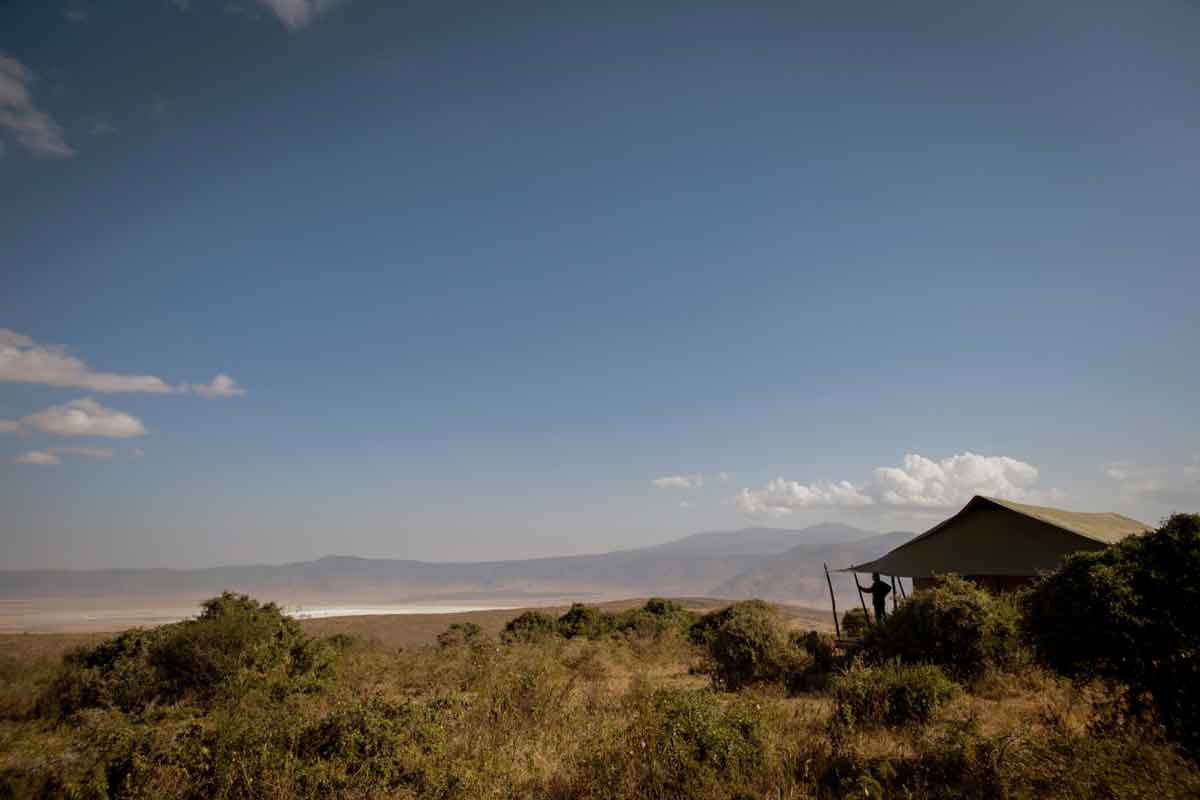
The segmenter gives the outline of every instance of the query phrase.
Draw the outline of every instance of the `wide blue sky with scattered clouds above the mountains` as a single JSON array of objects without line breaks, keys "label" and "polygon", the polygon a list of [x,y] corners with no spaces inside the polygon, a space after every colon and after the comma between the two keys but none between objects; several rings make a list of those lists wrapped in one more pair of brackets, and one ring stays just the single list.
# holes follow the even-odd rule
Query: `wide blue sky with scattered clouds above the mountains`
[{"label": "wide blue sky with scattered clouds above the mountains", "polygon": [[2,4],[0,560],[1195,510],[1196,41],[1188,2]]}]

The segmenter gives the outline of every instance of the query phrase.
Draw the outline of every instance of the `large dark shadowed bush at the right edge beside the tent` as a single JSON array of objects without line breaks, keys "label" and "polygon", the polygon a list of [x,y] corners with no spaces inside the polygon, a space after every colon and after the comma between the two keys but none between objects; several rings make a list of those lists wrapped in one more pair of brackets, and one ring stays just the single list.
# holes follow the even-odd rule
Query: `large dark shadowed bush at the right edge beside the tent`
[{"label": "large dark shadowed bush at the right edge beside the tent", "polygon": [[1200,754],[1200,515],[1174,515],[1152,534],[1079,553],[1022,600],[1037,657],[1069,676],[1129,687]]}]

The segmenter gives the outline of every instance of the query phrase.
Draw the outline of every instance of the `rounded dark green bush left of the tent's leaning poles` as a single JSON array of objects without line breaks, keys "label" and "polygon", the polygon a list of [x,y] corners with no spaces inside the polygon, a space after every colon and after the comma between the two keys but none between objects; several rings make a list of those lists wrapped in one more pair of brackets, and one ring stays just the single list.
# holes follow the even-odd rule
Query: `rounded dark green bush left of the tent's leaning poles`
[{"label": "rounded dark green bush left of the tent's leaning poles", "polygon": [[784,636],[775,608],[761,600],[708,614],[691,631],[704,642],[714,685],[728,691],[786,681],[803,667],[799,650]]}]

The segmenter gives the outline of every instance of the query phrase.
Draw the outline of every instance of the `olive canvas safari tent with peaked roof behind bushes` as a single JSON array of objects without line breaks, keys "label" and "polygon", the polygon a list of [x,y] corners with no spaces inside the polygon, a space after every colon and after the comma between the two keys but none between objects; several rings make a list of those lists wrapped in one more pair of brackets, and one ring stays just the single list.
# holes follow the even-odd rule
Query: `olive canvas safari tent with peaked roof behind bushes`
[{"label": "olive canvas safari tent with peaked roof behind bushes", "polygon": [[887,555],[847,571],[912,578],[919,591],[956,572],[991,590],[1015,589],[1070,553],[1103,549],[1151,527],[1118,513],[1082,513],[976,495],[956,515]]}]

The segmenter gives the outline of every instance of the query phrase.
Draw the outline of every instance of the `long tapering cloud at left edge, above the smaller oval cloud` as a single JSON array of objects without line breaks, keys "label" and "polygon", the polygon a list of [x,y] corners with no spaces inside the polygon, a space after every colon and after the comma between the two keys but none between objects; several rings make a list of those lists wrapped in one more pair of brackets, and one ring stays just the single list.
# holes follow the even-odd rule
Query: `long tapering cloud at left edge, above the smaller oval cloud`
[{"label": "long tapering cloud at left edge, above the smaller oval cloud", "polygon": [[157,375],[97,372],[82,360],[68,355],[61,347],[38,344],[30,337],[8,329],[0,329],[0,381],[85,389],[103,393],[194,393],[210,399],[246,393],[226,374],[218,374],[208,384],[170,386]]}]

